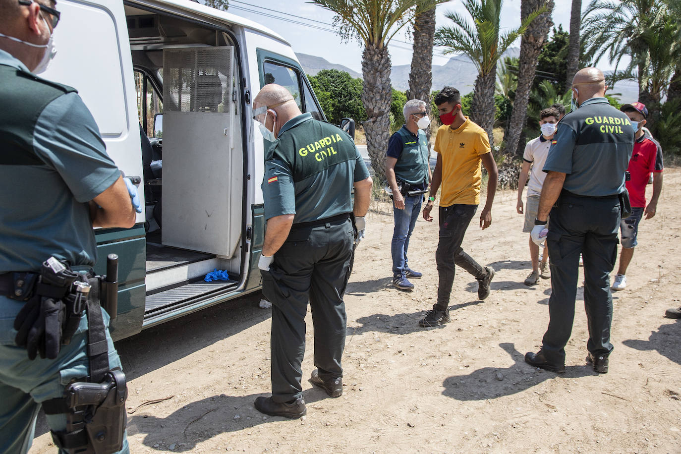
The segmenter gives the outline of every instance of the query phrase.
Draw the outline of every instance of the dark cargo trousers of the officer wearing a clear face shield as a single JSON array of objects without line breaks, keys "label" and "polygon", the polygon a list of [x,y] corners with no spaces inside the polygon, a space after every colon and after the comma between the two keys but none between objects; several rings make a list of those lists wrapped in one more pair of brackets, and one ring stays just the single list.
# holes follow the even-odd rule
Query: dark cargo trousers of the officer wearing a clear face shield
[{"label": "dark cargo trousers of the officer wearing a clear face shield", "polygon": [[315,227],[294,227],[262,272],[262,293],[272,302],[272,399],[302,396],[305,315],[310,302],[314,362],[322,380],[343,376],[347,317],[343,294],[350,276],[353,228],[349,218]]}]

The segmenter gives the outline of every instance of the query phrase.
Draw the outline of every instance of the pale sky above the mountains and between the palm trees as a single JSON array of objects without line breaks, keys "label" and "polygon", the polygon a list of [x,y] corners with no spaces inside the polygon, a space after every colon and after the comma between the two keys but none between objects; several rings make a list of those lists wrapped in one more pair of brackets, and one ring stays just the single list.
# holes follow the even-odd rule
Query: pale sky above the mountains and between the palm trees
[{"label": "pale sky above the mountains and between the palm trees", "polygon": [[[563,29],[569,31],[571,1],[556,0],[555,3],[556,6],[553,12],[554,24],[556,27],[558,27],[558,24],[562,24]],[[583,7],[586,7],[587,4],[588,2],[586,1],[582,2]],[[259,7],[268,8],[269,10]],[[445,12],[462,9],[462,2],[460,0],[452,0],[439,5],[437,7],[437,27],[452,23],[445,18]],[[296,17],[277,14],[275,11]],[[333,27],[319,23],[326,22],[331,24],[334,17],[334,13],[324,10],[322,7],[307,3],[305,0],[230,0],[229,12],[259,22],[276,31],[291,43],[295,52],[322,56],[330,61],[330,63],[338,63],[360,73],[362,72],[362,45],[354,39],[351,39],[349,42],[342,42],[340,37],[334,33]],[[304,22],[314,28],[293,24],[280,18],[268,17],[266,14]],[[504,1],[501,22],[502,27],[505,29],[518,27],[520,24],[520,0]],[[320,30],[316,27],[328,29],[329,31]],[[411,42],[411,37],[405,33],[408,27],[402,29],[390,44],[390,57],[393,65],[409,65],[411,63],[411,45],[405,44]],[[516,45],[520,46],[520,40]],[[449,59],[449,56],[443,56],[436,49],[433,58],[434,65],[444,65],[447,59]],[[601,62],[599,67],[604,70],[611,69],[611,65],[607,64],[607,61]]]}]

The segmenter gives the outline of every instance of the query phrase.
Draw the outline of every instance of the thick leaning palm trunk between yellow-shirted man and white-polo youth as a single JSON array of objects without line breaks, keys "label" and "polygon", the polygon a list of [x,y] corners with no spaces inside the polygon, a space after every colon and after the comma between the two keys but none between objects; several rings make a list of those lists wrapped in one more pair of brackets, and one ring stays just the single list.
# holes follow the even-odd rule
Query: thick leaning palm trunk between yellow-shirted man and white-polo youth
[{"label": "thick leaning palm trunk between yellow-shirted man and white-polo youth", "polygon": [[[539,15],[530,22],[520,40],[516,98],[513,100],[508,134],[504,135],[505,153],[509,156],[516,154],[518,150],[520,135],[527,116],[527,101],[535,80],[535,71],[537,71],[539,53],[553,25],[551,20],[553,7],[553,0],[522,0],[520,2],[521,20],[526,20],[530,14],[536,12],[539,12]],[[524,146],[525,144],[522,145]]]}]

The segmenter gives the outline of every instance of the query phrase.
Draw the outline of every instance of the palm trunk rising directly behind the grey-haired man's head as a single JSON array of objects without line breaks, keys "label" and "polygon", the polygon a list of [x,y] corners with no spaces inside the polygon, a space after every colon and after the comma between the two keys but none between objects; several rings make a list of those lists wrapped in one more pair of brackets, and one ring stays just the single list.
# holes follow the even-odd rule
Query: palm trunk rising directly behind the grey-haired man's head
[{"label": "palm trunk rising directly behind the grey-haired man's head", "polygon": [[[414,21],[414,46],[409,72],[407,99],[421,99],[430,114],[430,89],[432,87],[432,45],[435,35],[435,8],[416,16]],[[430,140],[430,128],[426,128]]]}]

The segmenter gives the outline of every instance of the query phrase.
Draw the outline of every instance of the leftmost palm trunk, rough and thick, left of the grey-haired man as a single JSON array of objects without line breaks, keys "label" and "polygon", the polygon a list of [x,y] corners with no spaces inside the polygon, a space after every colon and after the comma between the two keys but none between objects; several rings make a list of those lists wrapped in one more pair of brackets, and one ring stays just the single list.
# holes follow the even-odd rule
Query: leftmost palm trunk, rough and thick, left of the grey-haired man
[{"label": "leftmost palm trunk, rough and thick, left of the grey-haired man", "polygon": [[366,150],[371,159],[376,180],[381,186],[385,183],[385,150],[390,139],[390,103],[392,102],[392,86],[390,85],[390,55],[387,46],[367,43],[362,52],[362,103],[366,110],[367,120],[364,122],[366,132]]}]

